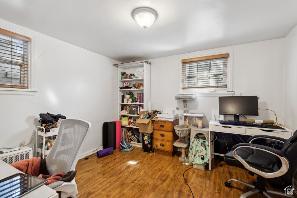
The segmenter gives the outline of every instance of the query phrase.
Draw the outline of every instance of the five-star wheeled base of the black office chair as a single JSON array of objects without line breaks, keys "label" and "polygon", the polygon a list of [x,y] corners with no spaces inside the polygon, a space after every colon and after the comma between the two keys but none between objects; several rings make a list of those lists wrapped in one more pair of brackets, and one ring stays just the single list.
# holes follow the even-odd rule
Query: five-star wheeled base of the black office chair
[{"label": "five-star wheeled base of the black office chair", "polygon": [[279,192],[279,191],[273,191],[273,190],[267,190],[267,189],[265,189],[265,187],[264,187],[265,180],[263,178],[260,178],[259,176],[257,177],[256,186],[255,185],[252,185],[250,183],[241,181],[239,179],[231,178],[231,179],[229,179],[228,181],[225,182],[225,186],[228,187],[228,188],[230,187],[230,181],[236,181],[238,183],[244,184],[244,185],[249,186],[249,187],[251,187],[251,188],[254,189],[254,190],[245,192],[239,198],[246,198],[246,197],[249,197],[249,196],[251,196],[253,194],[256,194],[256,193],[262,193],[262,194],[264,194],[268,198],[272,198],[268,193],[294,198],[293,196],[286,195],[285,193],[282,193],[282,192]]}]

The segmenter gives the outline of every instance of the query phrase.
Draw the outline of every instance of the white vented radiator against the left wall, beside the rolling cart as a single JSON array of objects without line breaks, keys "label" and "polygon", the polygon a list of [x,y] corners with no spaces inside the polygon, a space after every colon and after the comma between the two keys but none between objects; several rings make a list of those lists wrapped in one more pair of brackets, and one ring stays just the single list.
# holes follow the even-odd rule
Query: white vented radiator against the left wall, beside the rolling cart
[{"label": "white vented radiator against the left wall, beside the rolling cart", "polygon": [[17,151],[0,154],[0,159],[7,164],[29,158],[32,158],[32,149],[27,146],[20,147]]}]

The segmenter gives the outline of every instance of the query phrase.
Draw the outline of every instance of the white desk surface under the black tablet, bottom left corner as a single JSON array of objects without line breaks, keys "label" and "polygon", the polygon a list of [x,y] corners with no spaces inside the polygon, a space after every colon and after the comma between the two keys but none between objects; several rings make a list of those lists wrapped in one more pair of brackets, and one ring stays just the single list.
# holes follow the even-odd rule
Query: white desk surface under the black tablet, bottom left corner
[{"label": "white desk surface under the black tablet, bottom left corner", "polygon": [[[11,175],[14,175],[16,173],[22,173],[18,169],[10,166],[9,164],[3,162],[0,160],[0,179],[7,178]],[[25,194],[22,196],[23,198],[32,198],[32,197],[38,197],[38,198],[58,198],[59,194],[56,193],[55,190],[51,189],[48,186],[42,185],[38,187],[37,189],[34,189],[33,191]]]}]

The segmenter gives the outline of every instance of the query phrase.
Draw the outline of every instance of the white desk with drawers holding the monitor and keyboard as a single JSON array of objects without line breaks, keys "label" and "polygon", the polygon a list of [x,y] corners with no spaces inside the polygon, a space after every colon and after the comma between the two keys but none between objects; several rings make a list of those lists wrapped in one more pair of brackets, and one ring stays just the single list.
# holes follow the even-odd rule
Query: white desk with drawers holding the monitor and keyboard
[{"label": "white desk with drawers holding the monitor and keyboard", "polygon": [[220,124],[219,122],[214,122],[211,120],[209,122],[209,170],[211,170],[211,159],[214,155],[224,156],[224,154],[220,153],[213,153],[212,150],[214,149],[214,143],[211,144],[211,140],[213,139],[214,132],[222,132],[222,133],[233,133],[233,134],[240,134],[240,135],[270,135],[276,136],[284,139],[288,139],[293,136],[293,131],[286,128],[284,130],[273,130],[268,128],[262,127],[248,127],[248,126],[238,126],[238,125],[231,125],[231,124]]}]

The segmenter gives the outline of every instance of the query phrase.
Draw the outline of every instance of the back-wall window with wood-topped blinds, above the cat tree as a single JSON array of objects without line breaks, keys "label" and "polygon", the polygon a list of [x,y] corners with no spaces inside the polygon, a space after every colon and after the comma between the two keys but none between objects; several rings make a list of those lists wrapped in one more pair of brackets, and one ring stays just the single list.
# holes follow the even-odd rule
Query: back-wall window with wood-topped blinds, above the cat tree
[{"label": "back-wall window with wood-topped blinds, above the cat tree", "polygon": [[216,88],[228,85],[228,54],[181,60],[181,88]]}]

